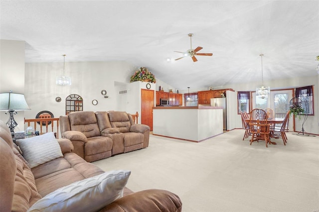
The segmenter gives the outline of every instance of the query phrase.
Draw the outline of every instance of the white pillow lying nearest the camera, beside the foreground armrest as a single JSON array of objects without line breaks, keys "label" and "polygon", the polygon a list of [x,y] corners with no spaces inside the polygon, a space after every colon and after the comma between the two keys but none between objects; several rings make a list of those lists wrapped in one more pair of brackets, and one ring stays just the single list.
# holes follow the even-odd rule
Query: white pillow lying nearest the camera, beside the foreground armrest
[{"label": "white pillow lying nearest the camera, beside the foreground armrest", "polygon": [[123,197],[131,171],[115,170],[55,190],[28,212],[94,212]]}]

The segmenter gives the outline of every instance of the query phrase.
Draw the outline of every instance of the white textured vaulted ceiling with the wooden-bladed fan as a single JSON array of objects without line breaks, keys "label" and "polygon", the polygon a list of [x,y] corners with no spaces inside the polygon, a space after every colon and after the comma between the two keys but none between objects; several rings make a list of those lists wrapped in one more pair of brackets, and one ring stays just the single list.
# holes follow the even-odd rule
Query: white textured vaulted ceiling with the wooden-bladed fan
[{"label": "white textured vaulted ceiling with the wooden-bladed fan", "polygon": [[[197,56],[176,59],[190,48]],[[0,39],[27,63],[128,61],[180,90],[316,76],[318,0],[1,0]]]}]

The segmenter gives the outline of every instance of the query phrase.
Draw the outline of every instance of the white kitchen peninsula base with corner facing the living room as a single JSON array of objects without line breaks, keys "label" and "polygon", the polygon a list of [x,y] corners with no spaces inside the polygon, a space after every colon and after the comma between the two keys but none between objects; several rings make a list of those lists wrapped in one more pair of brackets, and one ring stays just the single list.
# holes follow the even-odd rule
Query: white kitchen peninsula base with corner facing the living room
[{"label": "white kitchen peninsula base with corner facing the living room", "polygon": [[223,133],[223,109],[218,106],[153,107],[153,134],[200,142]]}]

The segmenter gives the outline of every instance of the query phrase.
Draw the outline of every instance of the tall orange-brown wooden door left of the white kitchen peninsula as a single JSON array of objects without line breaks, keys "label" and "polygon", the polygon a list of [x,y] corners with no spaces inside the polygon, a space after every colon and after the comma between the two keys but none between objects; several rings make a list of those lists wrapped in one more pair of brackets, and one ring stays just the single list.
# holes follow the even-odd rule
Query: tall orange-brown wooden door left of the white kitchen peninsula
[{"label": "tall orange-brown wooden door left of the white kitchen peninsula", "polygon": [[141,89],[141,123],[149,125],[153,131],[154,91]]}]

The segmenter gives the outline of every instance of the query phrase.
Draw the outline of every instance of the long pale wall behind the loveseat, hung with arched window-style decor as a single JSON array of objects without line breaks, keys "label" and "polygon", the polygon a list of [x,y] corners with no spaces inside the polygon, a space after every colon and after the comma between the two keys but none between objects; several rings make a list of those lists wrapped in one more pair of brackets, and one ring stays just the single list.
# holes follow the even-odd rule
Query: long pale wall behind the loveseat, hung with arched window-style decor
[{"label": "long pale wall behind the loveseat, hung with arched window-style decor", "polygon": [[[83,99],[83,110],[107,111],[126,109],[122,106],[119,91],[129,84],[134,67],[127,62],[66,62],[65,75],[72,78],[71,86],[58,86],[55,78],[63,71],[61,63],[25,64],[25,99],[31,107],[26,118],[34,118],[42,110],[49,110],[54,117],[65,114],[65,99],[77,94]],[[109,98],[104,98],[102,90]],[[62,101],[55,102],[56,97]],[[92,100],[97,100],[96,106]],[[135,109],[132,109],[133,111]],[[131,112],[131,111],[130,111]]]}]

